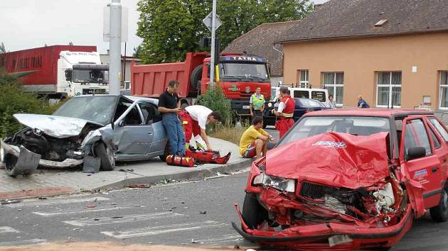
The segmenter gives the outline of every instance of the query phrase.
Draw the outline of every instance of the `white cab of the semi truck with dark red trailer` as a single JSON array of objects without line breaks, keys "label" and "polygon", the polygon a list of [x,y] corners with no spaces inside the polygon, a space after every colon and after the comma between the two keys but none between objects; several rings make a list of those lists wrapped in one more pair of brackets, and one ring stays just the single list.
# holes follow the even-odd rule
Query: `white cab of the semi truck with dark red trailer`
[{"label": "white cab of the semi truck with dark red trailer", "polygon": [[67,96],[107,94],[109,65],[102,65],[98,52],[60,52],[57,92]]}]

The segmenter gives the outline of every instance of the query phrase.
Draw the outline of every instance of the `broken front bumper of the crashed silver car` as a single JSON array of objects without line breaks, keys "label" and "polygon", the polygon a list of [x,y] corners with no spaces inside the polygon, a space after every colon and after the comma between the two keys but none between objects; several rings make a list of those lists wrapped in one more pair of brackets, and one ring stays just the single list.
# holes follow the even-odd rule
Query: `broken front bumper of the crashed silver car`
[{"label": "broken front bumper of the crashed silver car", "polygon": [[[4,140],[0,140],[0,160],[5,159],[5,156],[8,154],[14,155],[16,157],[19,157],[21,148],[17,147],[16,145],[9,145],[8,143],[5,143]],[[53,160],[39,160],[39,166],[41,167],[50,167],[50,168],[68,168],[68,167],[76,167],[80,164],[82,164],[84,160],[75,160],[75,159],[65,159],[62,162],[53,161]]]}]

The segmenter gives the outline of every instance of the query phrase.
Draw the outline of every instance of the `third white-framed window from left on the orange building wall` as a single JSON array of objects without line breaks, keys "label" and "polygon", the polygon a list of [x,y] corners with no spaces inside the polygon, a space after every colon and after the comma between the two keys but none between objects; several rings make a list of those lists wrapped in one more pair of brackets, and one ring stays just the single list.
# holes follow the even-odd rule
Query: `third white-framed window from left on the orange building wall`
[{"label": "third white-framed window from left on the orange building wall", "polygon": [[401,72],[377,72],[376,88],[376,106],[401,106]]}]

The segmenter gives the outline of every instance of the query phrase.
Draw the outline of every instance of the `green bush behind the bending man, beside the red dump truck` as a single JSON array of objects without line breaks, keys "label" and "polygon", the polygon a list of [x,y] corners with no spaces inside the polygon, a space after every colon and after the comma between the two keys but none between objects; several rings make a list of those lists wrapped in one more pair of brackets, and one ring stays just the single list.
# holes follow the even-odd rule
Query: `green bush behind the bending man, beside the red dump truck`
[{"label": "green bush behind the bending man, beside the red dump truck", "polygon": [[201,106],[206,106],[212,111],[219,111],[225,124],[230,124],[233,120],[233,111],[230,107],[230,100],[224,96],[221,87],[215,86],[213,89],[208,89],[206,94],[199,99],[199,103]]}]

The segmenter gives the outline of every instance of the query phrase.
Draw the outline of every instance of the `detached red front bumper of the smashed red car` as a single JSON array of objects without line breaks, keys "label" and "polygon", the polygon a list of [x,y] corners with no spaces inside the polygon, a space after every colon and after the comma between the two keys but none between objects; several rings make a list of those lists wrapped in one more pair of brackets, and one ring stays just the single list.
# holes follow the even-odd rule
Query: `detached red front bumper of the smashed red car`
[{"label": "detached red front bumper of the smashed red car", "polygon": [[[246,240],[267,247],[285,247],[294,250],[356,250],[373,247],[392,247],[410,230],[413,221],[411,206],[395,225],[388,227],[359,226],[351,223],[325,222],[309,225],[292,225],[283,230],[274,228],[250,229],[242,218],[238,204],[235,209],[241,221],[241,227],[232,223],[233,228]],[[330,238],[336,236],[349,238],[350,242],[330,245]]]}]

